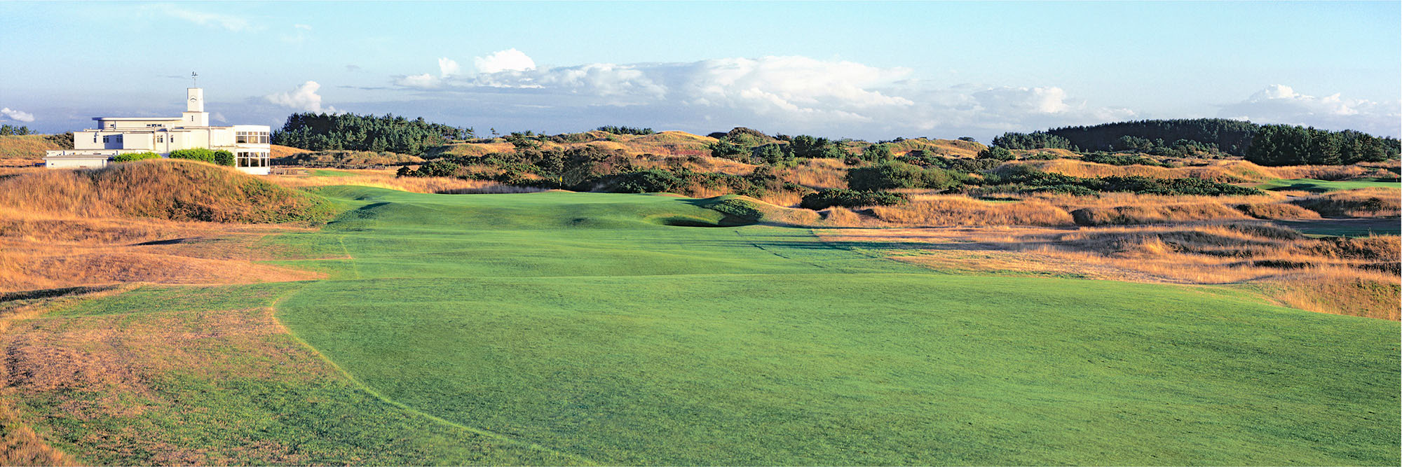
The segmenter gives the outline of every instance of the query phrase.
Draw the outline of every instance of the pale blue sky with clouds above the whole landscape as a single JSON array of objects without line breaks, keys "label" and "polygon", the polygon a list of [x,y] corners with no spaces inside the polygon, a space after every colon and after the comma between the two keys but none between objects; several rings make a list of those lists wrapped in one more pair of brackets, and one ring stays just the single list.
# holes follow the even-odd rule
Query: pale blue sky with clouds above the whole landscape
[{"label": "pale blue sky with clouds above the whole landscape", "polygon": [[889,140],[1228,117],[1402,133],[1402,3],[0,1],[0,123],[394,113]]}]

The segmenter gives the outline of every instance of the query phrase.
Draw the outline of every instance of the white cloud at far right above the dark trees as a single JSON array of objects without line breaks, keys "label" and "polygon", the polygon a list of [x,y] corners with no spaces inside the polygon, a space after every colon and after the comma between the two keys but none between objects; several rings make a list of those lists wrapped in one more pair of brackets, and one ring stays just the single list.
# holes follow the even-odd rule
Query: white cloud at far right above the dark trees
[{"label": "white cloud at far right above the dark trees", "polygon": [[1374,134],[1398,134],[1402,102],[1346,99],[1340,94],[1314,96],[1283,84],[1256,91],[1245,101],[1224,105],[1218,116],[1255,123],[1353,129]]}]

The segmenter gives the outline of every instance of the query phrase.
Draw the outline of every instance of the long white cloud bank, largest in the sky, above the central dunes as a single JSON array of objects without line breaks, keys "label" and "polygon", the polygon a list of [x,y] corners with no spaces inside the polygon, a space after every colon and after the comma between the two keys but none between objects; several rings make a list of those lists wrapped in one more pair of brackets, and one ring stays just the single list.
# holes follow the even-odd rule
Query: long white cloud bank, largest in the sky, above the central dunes
[{"label": "long white cloud bank, largest in the sky, above the central dunes", "polygon": [[[951,87],[914,80],[903,67],[802,56],[517,69],[405,76],[394,82],[435,98],[498,103],[492,106],[498,112],[520,113],[523,119],[527,113],[550,120],[618,115],[679,129],[719,123],[827,136],[918,136],[938,130],[959,133],[941,133],[949,137],[990,137],[1136,116],[1129,109],[1073,99],[1059,87]],[[541,106],[545,109],[526,110]],[[573,126],[590,124],[597,123]]]}]

